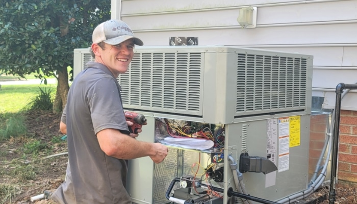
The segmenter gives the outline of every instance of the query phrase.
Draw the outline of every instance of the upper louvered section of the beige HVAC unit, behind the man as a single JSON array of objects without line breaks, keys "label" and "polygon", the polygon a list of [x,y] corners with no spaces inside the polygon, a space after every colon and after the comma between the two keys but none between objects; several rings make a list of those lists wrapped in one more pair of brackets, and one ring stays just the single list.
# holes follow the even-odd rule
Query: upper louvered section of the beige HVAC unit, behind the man
[{"label": "upper louvered section of the beige HVAC unit, behind the man", "polygon": [[[88,49],[74,53],[74,69],[84,69]],[[247,116],[309,113],[312,60],[243,47],[138,46],[118,81],[124,108],[228,124]]]}]

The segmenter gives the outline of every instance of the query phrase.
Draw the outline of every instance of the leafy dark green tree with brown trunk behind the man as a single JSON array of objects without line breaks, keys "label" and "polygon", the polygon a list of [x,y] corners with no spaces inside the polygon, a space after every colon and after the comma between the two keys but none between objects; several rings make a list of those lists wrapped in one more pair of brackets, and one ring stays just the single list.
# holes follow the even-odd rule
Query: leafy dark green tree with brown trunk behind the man
[{"label": "leafy dark green tree with brown trunk behind the man", "polygon": [[[110,19],[110,0],[0,0],[0,71],[58,79],[54,112],[67,101],[73,49],[89,47],[97,24]],[[43,74],[42,74],[43,73]]]}]

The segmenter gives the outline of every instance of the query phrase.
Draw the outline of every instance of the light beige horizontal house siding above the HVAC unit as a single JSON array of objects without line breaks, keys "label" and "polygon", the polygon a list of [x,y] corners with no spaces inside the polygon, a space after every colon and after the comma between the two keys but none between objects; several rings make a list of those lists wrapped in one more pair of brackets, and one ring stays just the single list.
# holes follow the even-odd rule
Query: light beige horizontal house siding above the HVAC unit
[{"label": "light beige horizontal house siding above the HVAC unit", "polygon": [[[115,4],[116,10],[120,10],[118,15],[145,46],[169,45],[172,36],[194,36],[199,45],[246,46],[313,55],[313,95],[326,96],[324,108],[334,107],[338,83],[357,82],[357,0],[119,2]],[[239,9],[245,6],[258,8],[257,28],[240,28],[236,19]],[[357,92],[351,91],[347,96],[342,109],[357,110],[353,103],[357,101]]]}]

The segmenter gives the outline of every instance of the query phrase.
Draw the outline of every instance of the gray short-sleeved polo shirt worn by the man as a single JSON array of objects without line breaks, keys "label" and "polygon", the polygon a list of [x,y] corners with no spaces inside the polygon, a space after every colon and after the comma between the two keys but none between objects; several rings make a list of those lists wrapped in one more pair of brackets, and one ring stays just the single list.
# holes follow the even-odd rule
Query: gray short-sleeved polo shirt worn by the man
[{"label": "gray short-sleeved polo shirt worn by the man", "polygon": [[96,138],[104,129],[129,131],[120,86],[103,64],[87,66],[68,92],[62,117],[67,125],[67,177],[52,198],[59,203],[132,203],[125,190],[127,161],[107,156]]}]

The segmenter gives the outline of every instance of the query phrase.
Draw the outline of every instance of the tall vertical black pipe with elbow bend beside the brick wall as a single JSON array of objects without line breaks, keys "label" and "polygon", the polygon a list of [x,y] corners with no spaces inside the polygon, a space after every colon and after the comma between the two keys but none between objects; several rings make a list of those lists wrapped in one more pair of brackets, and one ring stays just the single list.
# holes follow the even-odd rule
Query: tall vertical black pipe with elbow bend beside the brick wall
[{"label": "tall vertical black pipe with elbow bend beside the brick wall", "polygon": [[334,204],[336,201],[336,171],[337,171],[337,158],[339,151],[339,130],[340,130],[340,111],[341,111],[341,94],[343,89],[357,89],[356,84],[340,83],[336,86],[336,104],[335,104],[335,123],[334,123],[334,140],[331,153],[331,179],[329,191],[329,204]]}]

